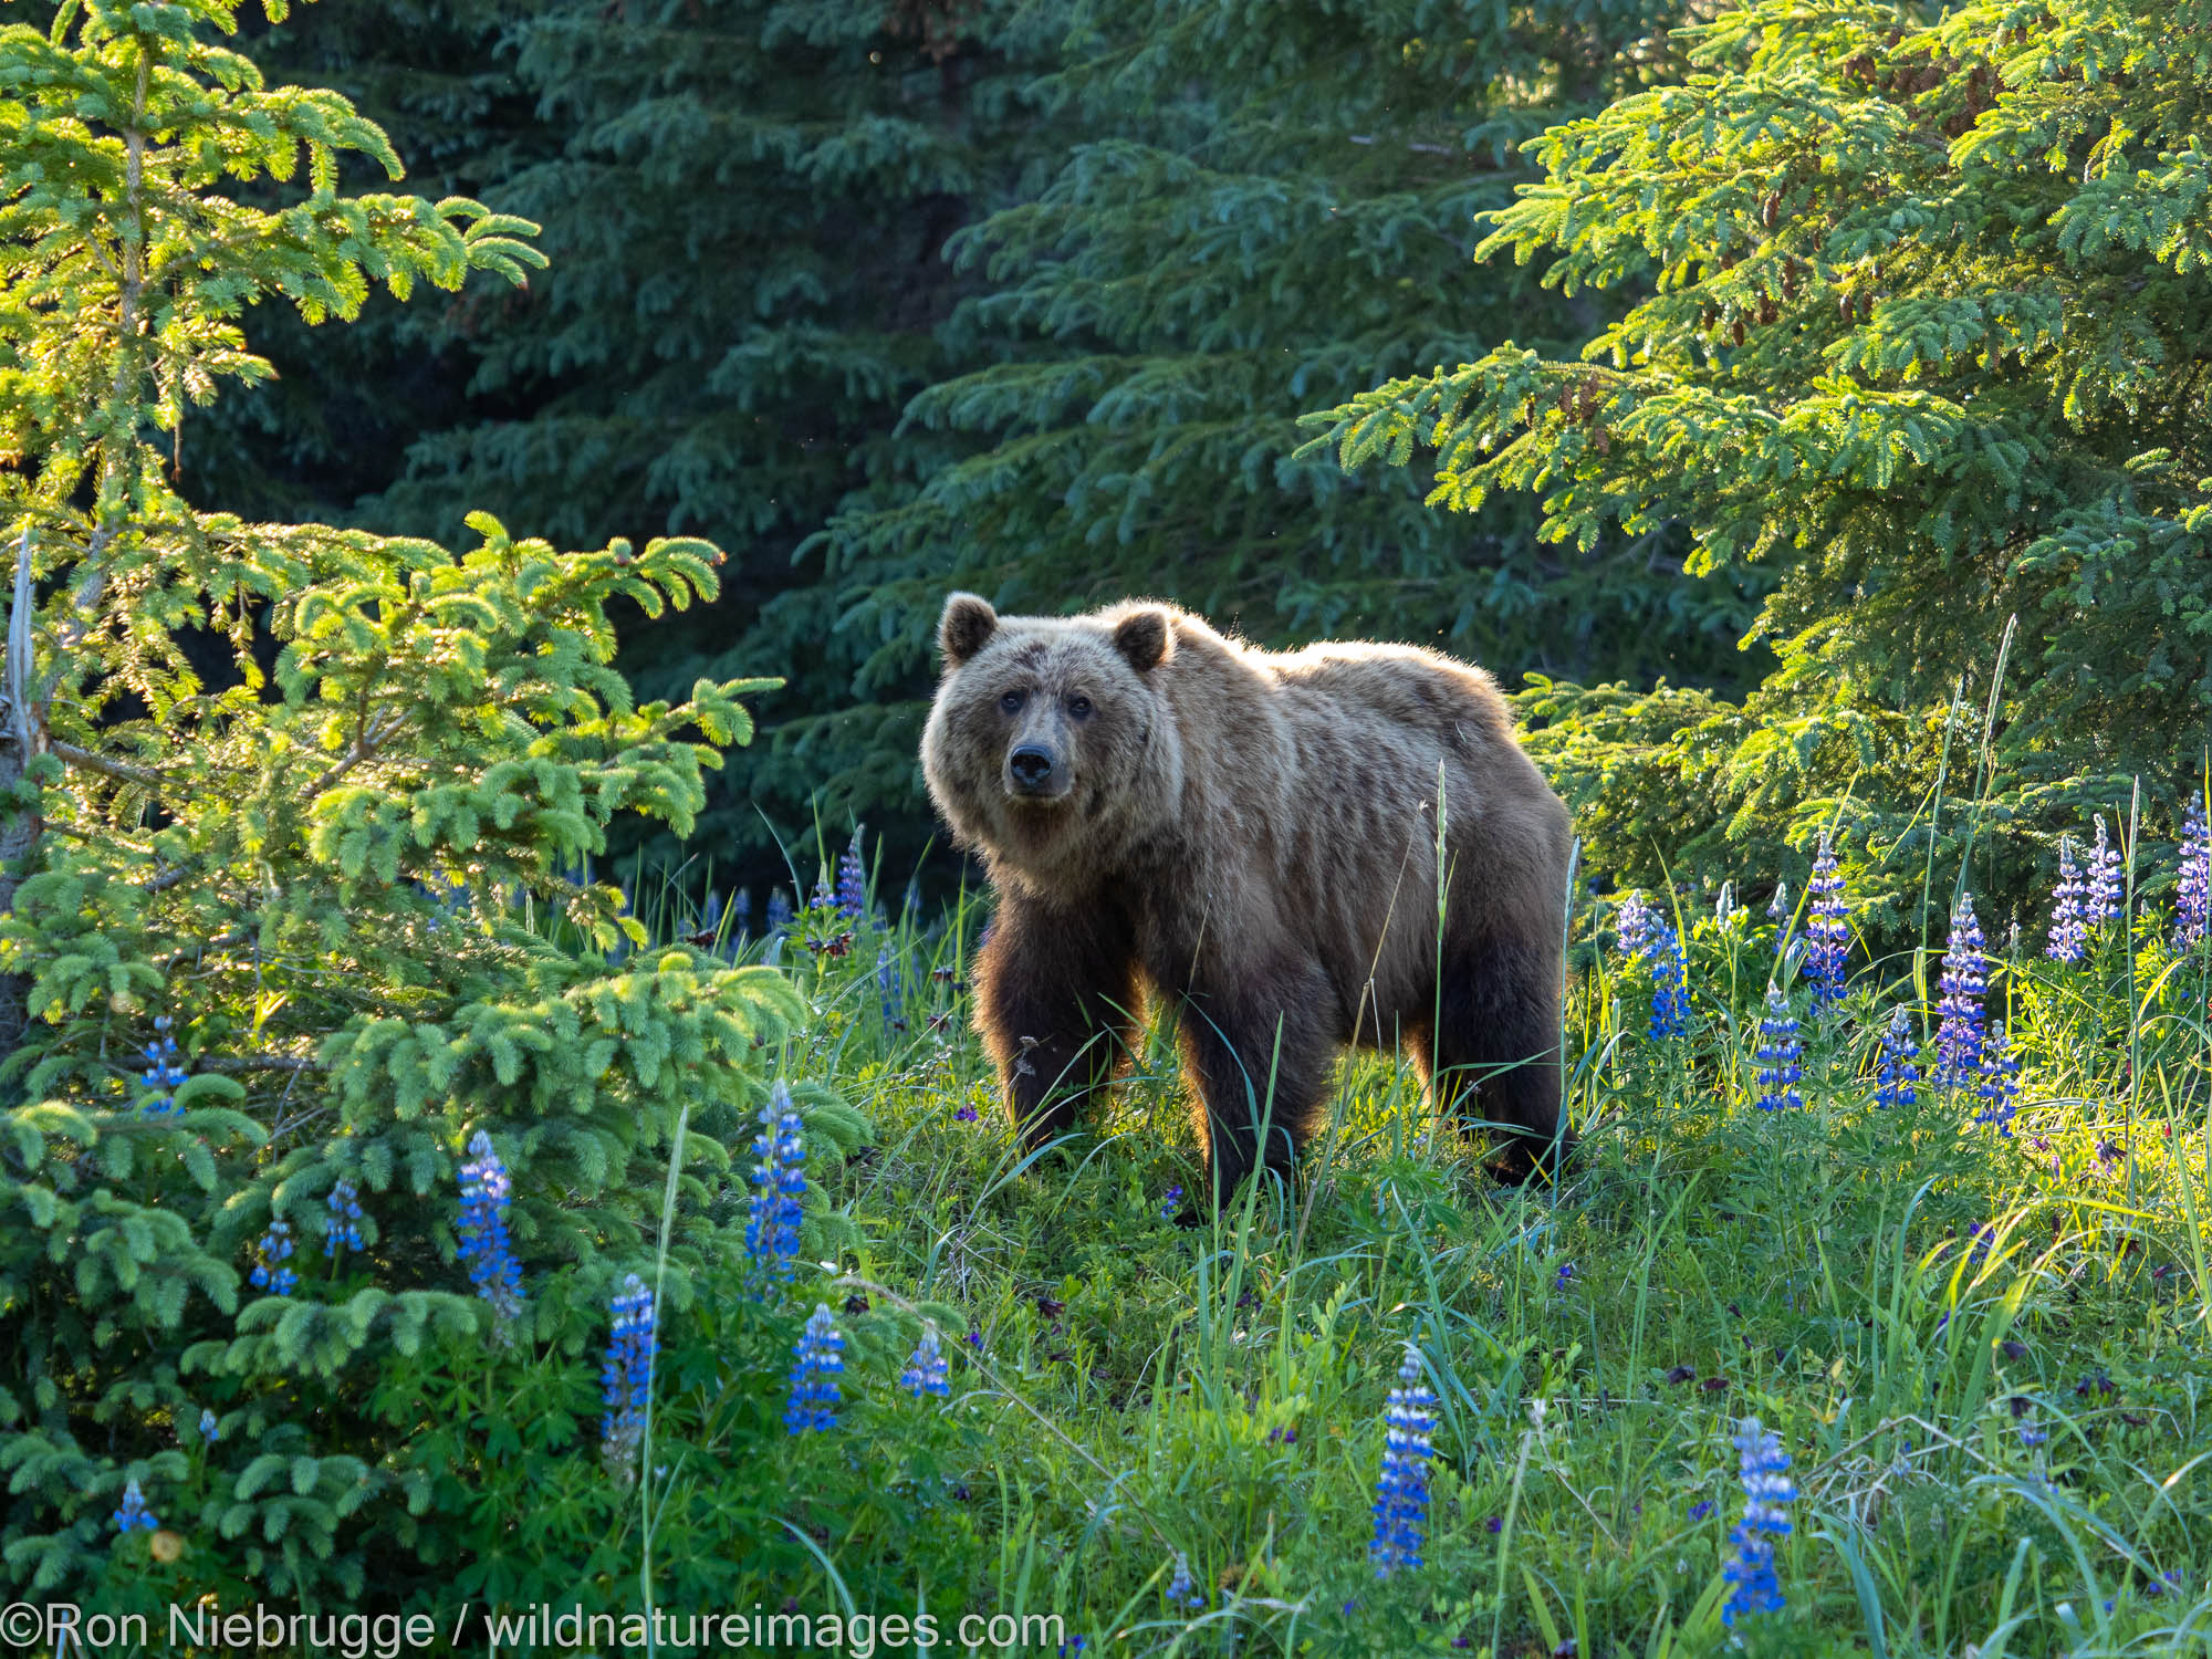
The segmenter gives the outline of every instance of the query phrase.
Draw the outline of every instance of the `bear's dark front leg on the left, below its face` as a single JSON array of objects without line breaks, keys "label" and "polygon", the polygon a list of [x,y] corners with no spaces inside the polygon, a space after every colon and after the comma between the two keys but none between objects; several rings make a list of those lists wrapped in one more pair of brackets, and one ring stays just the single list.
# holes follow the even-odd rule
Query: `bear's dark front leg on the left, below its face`
[{"label": "bear's dark front leg on the left, below its face", "polygon": [[975,1029],[998,1064],[1022,1150],[1073,1124],[1137,1026],[1137,969],[1119,916],[1006,896],[975,956]]}]

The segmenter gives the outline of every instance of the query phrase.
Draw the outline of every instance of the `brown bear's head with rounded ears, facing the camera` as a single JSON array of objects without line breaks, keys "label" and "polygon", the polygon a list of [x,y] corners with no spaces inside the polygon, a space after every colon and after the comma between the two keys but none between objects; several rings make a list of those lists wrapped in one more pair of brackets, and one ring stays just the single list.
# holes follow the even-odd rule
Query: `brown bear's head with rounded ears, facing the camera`
[{"label": "brown bear's head with rounded ears, facing the camera", "polygon": [[1166,697],[1175,617],[1002,617],[973,593],[938,622],[945,679],[922,774],[962,845],[1000,876],[1077,891],[1172,816],[1181,743]]}]

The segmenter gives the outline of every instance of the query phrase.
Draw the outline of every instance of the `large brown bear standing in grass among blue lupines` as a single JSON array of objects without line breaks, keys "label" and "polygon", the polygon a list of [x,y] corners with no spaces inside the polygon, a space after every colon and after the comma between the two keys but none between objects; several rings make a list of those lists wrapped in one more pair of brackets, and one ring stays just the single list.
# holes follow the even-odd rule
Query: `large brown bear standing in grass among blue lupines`
[{"label": "large brown bear standing in grass among blue lupines", "polygon": [[973,593],[938,646],[922,772],[998,894],[975,1026],[1024,1146],[1164,1004],[1214,1203],[1261,1124],[1267,1166],[1294,1166],[1347,1044],[1407,1051],[1442,1113],[1504,1130],[1509,1179],[1568,1148],[1568,814],[1486,672],[1254,650],[1168,604],[1000,617]]}]

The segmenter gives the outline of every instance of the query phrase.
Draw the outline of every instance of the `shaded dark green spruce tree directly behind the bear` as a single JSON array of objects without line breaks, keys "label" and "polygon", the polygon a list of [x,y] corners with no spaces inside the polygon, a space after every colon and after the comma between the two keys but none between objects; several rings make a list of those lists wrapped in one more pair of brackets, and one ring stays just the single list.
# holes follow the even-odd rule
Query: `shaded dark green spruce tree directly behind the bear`
[{"label": "shaded dark green spruce tree directly behind the bear", "polygon": [[1422,478],[1296,456],[1301,411],[1378,374],[1604,325],[1535,270],[1471,265],[1475,217],[1531,177],[1522,139],[1666,71],[1672,18],[1075,7],[1044,91],[1077,142],[1037,199],[953,239],[987,285],[956,319],[967,367],[905,414],[958,460],[845,511],[810,546],[816,580],[770,604],[748,657],[830,661],[776,706],[752,792],[922,816],[914,739],[953,586],[1046,613],[1166,595],[1263,644],[1409,639],[1509,684],[1734,672],[1752,606],[1734,573],[1683,580],[1666,526],[1562,551],[1533,511],[1455,522]]}]

